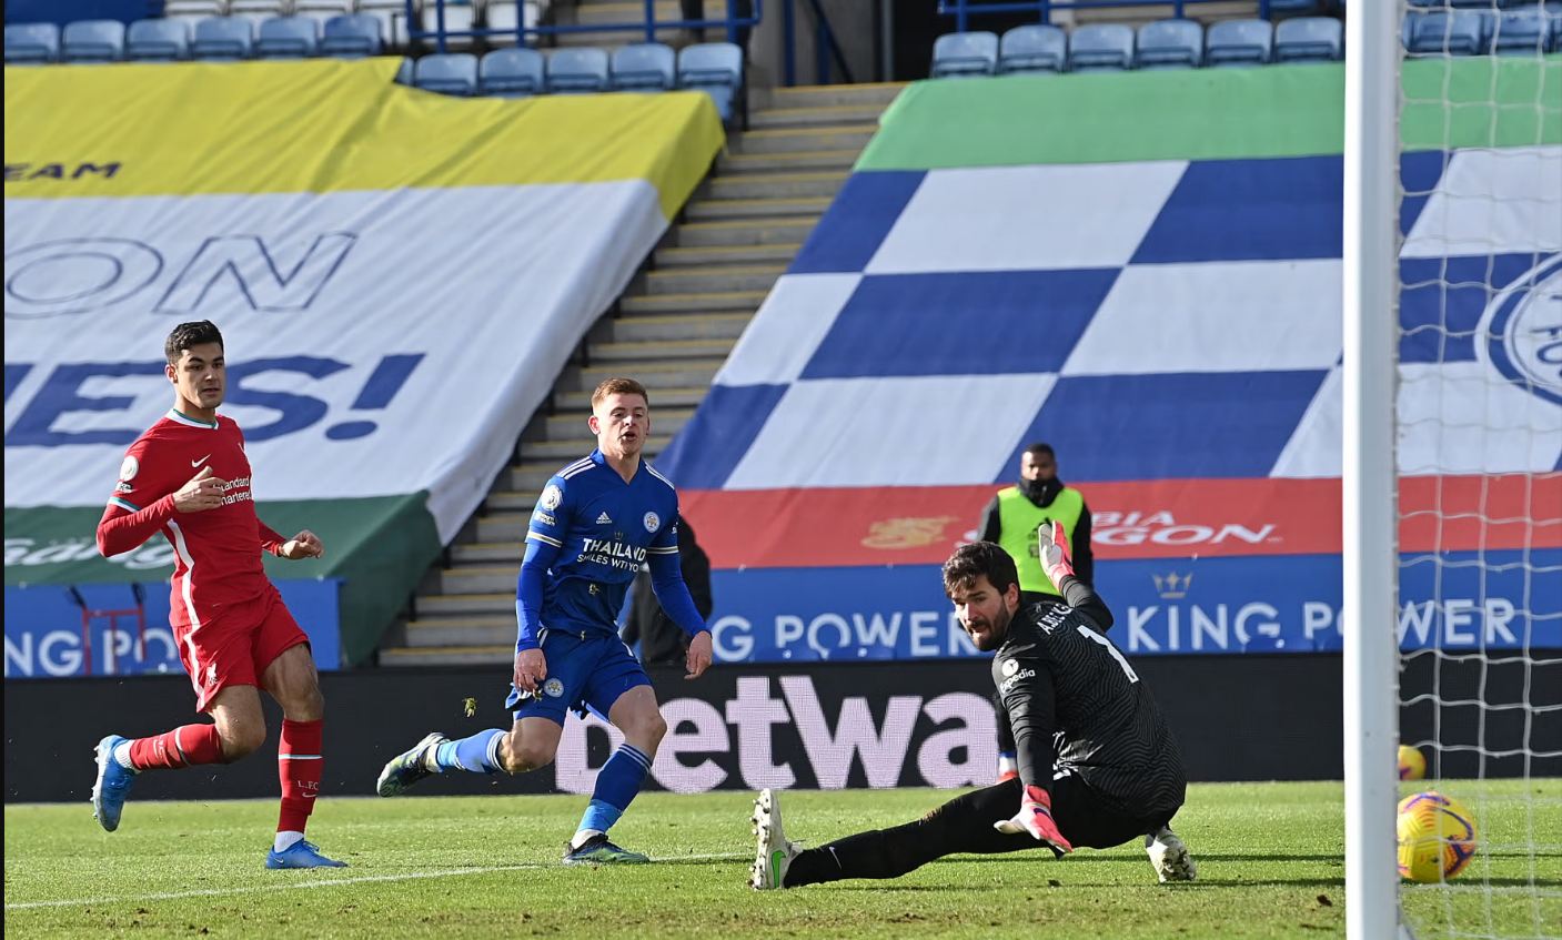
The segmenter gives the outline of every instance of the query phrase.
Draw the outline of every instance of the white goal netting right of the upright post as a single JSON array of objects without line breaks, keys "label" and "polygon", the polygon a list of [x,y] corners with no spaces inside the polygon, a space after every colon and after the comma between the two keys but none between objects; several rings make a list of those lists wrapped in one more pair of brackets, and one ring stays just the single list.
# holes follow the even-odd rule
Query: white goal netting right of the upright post
[{"label": "white goal netting right of the upright post", "polygon": [[1400,16],[1398,796],[1475,846],[1400,882],[1401,924],[1562,937],[1562,5]]}]

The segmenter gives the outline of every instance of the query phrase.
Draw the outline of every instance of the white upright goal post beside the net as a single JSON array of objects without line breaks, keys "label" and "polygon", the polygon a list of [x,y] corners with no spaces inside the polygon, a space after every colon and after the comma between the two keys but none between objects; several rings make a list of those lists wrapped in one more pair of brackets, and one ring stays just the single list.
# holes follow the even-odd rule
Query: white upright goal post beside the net
[{"label": "white upright goal post beside the net", "polygon": [[1398,342],[1400,3],[1345,22],[1342,554],[1345,923],[1351,940],[1398,924]]}]

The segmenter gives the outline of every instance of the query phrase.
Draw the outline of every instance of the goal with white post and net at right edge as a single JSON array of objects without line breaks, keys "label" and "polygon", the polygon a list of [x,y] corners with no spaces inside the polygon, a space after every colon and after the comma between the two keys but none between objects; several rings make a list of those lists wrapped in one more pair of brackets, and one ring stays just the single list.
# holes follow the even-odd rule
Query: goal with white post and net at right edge
[{"label": "goal with white post and net at right edge", "polygon": [[[1562,5],[1345,37],[1346,932],[1562,935]],[[1457,804],[1435,884],[1396,868],[1400,743]]]}]

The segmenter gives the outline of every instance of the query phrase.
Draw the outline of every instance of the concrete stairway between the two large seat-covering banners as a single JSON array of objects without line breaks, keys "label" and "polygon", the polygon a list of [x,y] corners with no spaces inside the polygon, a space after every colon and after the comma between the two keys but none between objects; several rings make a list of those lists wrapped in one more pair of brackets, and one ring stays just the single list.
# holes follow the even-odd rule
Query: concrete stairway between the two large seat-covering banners
[{"label": "concrete stairway between the two large seat-covering banners", "polygon": [[737,337],[814,230],[897,84],[779,89],[734,134],[617,309],[594,328],[526,428],[515,464],[412,601],[384,665],[509,662],[526,517],[559,467],[595,447],[590,392],[631,375],[651,392],[653,456],[704,398]]}]

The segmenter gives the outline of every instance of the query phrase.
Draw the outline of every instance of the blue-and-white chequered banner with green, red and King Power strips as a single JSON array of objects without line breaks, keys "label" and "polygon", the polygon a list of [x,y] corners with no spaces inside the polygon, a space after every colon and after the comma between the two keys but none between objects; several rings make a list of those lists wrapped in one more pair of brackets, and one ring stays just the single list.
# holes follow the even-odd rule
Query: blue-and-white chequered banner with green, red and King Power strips
[{"label": "blue-and-white chequered banner with green, red and King Power strips", "polygon": [[[1404,80],[1398,609],[1365,626],[1562,648],[1562,59]],[[908,87],[658,461],[717,657],[970,656],[939,565],[1031,442],[1125,651],[1339,650],[1342,101],[1339,67]]]}]

